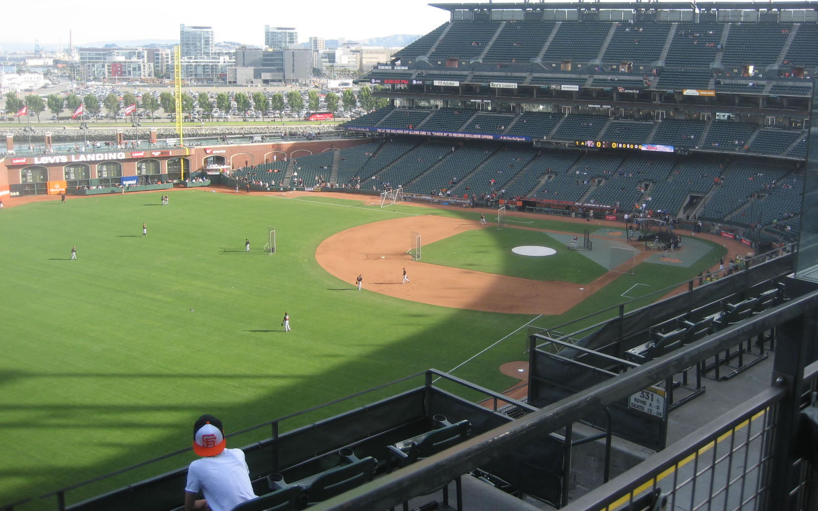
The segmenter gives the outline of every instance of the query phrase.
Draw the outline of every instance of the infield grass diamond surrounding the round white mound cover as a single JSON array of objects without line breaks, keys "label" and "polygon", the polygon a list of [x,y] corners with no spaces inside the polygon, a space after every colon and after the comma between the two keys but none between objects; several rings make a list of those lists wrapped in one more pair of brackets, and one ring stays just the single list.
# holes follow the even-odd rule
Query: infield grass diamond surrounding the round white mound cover
[{"label": "infield grass diamond surrounding the round white mound cover", "polygon": [[[522,245],[549,246],[557,253],[531,257],[511,251]],[[429,243],[423,247],[423,262],[489,274],[580,284],[590,283],[608,271],[546,233],[521,228],[474,229]]]}]

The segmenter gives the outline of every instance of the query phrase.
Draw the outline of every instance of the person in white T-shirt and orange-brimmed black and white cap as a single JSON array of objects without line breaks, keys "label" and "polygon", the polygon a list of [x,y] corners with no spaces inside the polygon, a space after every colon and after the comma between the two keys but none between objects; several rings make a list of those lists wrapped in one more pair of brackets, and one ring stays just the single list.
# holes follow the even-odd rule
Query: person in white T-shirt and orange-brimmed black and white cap
[{"label": "person in white T-shirt and orange-brimmed black and white cap", "polygon": [[[222,421],[213,415],[204,414],[193,425],[193,450],[202,458],[187,468],[185,511],[230,511],[256,497],[244,451],[225,449],[226,443]],[[196,500],[200,491],[205,499]]]}]

